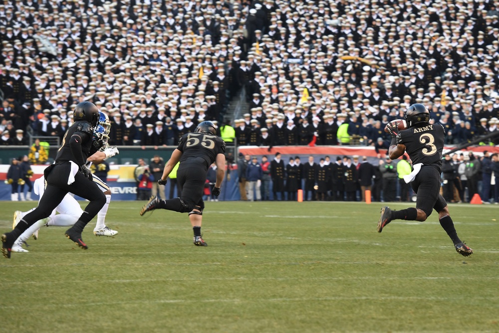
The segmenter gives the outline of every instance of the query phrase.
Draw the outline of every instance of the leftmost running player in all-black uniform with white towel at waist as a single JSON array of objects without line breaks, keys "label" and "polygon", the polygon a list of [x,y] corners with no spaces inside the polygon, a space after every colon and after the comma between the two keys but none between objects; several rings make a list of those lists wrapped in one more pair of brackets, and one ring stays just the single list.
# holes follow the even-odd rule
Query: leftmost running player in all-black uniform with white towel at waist
[{"label": "leftmost running player in all-black uniform with white towel at waist", "polygon": [[92,181],[92,173],[85,163],[103,143],[93,140],[93,128],[99,120],[99,111],[93,103],[76,105],[73,118],[75,122],[66,131],[55,162],[44,171],[47,186],[38,207],[24,216],[14,230],[1,236],[2,253],[6,258],[10,258],[10,249],[17,237],[36,221],[48,217],[68,192],[90,201],[78,221],[65,233],[80,248],[87,249],[81,232],[104,206],[106,196]]}]

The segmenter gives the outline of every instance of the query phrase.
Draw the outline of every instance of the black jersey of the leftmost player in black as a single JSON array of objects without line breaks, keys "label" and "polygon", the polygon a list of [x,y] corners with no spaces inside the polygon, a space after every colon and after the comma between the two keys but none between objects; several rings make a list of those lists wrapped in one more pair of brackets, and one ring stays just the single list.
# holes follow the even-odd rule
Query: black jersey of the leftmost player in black
[{"label": "black jersey of the leftmost player in black", "polygon": [[[77,134],[81,138],[82,156],[74,156],[69,146],[69,141],[73,134]],[[69,127],[62,138],[61,146],[57,151],[56,161],[73,161],[78,165],[85,164],[88,156],[91,155],[93,138],[93,127],[87,121],[76,121]],[[79,139],[78,139],[79,140]],[[95,152],[95,151],[94,151]],[[83,161],[79,160],[83,157]]]}]

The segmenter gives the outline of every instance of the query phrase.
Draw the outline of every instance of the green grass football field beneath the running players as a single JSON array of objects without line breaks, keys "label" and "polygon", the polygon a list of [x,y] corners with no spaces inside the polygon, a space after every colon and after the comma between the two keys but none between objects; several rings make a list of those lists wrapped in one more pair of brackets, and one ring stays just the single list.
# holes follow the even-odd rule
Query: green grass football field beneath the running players
[{"label": "green grass football field beneath the running players", "polygon": [[380,203],[209,202],[206,248],[142,205],[111,202],[87,251],[51,227],[1,258],[2,332],[499,332],[497,206],[450,206],[465,258],[436,214],[378,234]]}]

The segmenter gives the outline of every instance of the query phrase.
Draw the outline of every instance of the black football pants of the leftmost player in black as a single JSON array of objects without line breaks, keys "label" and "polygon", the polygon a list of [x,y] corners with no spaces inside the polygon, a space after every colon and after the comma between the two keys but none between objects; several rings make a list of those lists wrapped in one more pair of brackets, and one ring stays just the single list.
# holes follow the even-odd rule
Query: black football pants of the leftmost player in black
[{"label": "black football pants of the leftmost player in black", "polygon": [[79,218],[79,221],[85,224],[90,222],[106,203],[106,196],[97,184],[79,171],[74,176],[74,182],[71,185],[67,184],[71,169],[69,162],[53,165],[51,168],[46,177],[47,186],[38,207],[25,215],[15,227],[21,233],[36,221],[50,216],[68,192],[90,201]]}]

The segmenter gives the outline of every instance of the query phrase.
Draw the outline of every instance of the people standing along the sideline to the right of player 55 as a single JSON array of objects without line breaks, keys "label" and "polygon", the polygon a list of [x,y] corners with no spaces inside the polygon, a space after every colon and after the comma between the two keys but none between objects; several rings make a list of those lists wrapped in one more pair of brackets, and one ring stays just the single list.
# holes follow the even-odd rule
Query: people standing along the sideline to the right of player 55
[{"label": "people standing along the sideline to the right of player 55", "polygon": [[[469,203],[479,194],[484,203],[499,204],[499,156],[484,151],[444,154],[442,195],[450,203]],[[404,176],[412,171],[407,155],[393,161],[353,156],[317,156],[306,159],[290,156],[239,154],[237,160],[241,200],[297,200],[298,190],[304,201],[366,201],[366,190],[372,201],[412,200],[412,189]],[[493,182],[493,177],[497,177]]]}]

